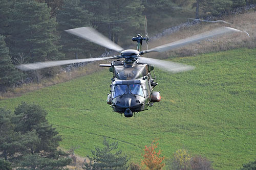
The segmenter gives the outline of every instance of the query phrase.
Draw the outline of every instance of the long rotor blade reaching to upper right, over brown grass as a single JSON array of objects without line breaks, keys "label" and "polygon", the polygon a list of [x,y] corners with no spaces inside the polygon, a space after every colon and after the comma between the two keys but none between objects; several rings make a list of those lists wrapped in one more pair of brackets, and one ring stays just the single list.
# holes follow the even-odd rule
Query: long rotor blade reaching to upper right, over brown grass
[{"label": "long rotor blade reaching to upper right, over brown grass", "polygon": [[214,29],[214,30],[211,30],[211,31],[206,31],[204,33],[197,34],[197,35],[185,38],[185,39],[181,39],[181,40],[174,41],[174,42],[171,42],[171,43],[168,43],[168,44],[157,46],[157,47],[151,48],[150,50],[144,50],[144,51],[140,52],[140,54],[150,53],[150,52],[160,52],[161,53],[161,52],[165,52],[165,51],[168,51],[168,50],[173,50],[174,48],[178,48],[178,47],[184,46],[186,44],[197,42],[197,41],[200,41],[200,40],[203,40],[203,39],[207,39],[207,38],[211,38],[211,37],[217,37],[217,36],[221,36],[223,34],[234,33],[234,32],[240,32],[241,33],[242,31],[237,30],[237,29],[233,29],[233,28],[230,28],[230,27],[219,27],[217,29]]}]

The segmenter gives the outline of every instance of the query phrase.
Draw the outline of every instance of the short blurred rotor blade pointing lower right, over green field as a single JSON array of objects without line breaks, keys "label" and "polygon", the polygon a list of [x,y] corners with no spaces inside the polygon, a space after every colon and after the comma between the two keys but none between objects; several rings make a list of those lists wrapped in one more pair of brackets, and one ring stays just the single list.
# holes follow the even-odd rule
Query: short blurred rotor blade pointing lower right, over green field
[{"label": "short blurred rotor blade pointing lower right, over green field", "polygon": [[195,69],[194,66],[176,63],[172,61],[166,61],[166,60],[158,60],[153,58],[145,58],[145,57],[138,57],[140,62],[145,62],[148,64],[152,64],[156,66],[157,68],[160,68],[165,71],[169,71],[172,73],[178,73],[183,71],[189,71],[192,69]]}]

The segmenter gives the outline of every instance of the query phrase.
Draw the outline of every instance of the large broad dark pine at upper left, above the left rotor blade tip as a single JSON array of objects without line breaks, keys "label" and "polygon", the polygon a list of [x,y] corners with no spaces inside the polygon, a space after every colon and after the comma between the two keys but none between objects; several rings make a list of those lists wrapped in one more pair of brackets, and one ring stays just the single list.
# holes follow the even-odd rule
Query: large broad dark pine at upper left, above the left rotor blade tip
[{"label": "large broad dark pine at upper left, above the left rotor blade tip", "polygon": [[58,36],[54,34],[57,22],[50,18],[47,4],[34,0],[16,0],[8,13],[6,34],[7,46],[12,58],[19,53],[28,56],[28,62],[46,61],[62,58],[57,45]]}]

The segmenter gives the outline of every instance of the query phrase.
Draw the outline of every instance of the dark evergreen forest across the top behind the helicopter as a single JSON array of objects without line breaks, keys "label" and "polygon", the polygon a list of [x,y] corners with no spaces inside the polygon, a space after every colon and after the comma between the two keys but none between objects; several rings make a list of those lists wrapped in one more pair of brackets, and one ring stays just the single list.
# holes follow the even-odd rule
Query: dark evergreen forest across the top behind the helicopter
[{"label": "dark evergreen forest across the top behind the helicopter", "polygon": [[[256,3],[256,0],[0,0],[0,91],[27,75],[54,75],[51,69],[24,74],[14,65],[97,57],[104,48],[69,35],[64,30],[91,26],[116,43],[126,45],[144,32],[144,16],[151,23],[179,11],[193,9],[195,17]],[[130,41],[128,41],[130,42]],[[93,54],[93,55],[92,55]],[[8,74],[6,74],[8,72]]]}]

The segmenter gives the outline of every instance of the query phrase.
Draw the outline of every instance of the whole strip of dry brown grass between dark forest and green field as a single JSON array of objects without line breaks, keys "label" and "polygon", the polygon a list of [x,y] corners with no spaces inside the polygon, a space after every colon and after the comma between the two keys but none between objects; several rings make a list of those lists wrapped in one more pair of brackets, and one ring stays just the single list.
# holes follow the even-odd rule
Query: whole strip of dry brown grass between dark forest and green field
[{"label": "whole strip of dry brown grass between dark forest and green field", "polygon": [[[216,27],[222,27],[222,26],[228,26],[228,27],[239,29],[239,30],[245,30],[250,35],[250,37],[248,37],[245,33],[231,34],[231,35],[226,35],[219,38],[207,39],[204,41],[186,45],[184,47],[177,48],[174,51],[169,51],[165,53],[150,53],[149,55],[152,58],[164,59],[168,57],[181,57],[181,56],[184,57],[184,56],[193,56],[193,55],[210,53],[210,52],[220,52],[220,51],[232,50],[232,49],[242,48],[242,47],[255,48],[256,47],[256,43],[255,43],[256,42],[256,34],[255,34],[256,20],[254,19],[255,16],[256,16],[256,11],[251,9],[239,15],[230,15],[230,16],[225,16],[221,18],[230,22],[231,25],[224,24],[223,22],[218,22],[218,23],[201,22],[191,27],[180,29],[175,33],[172,33],[169,35],[163,35],[159,39],[155,39],[153,36],[154,34],[149,31],[150,37],[152,38],[150,39],[149,48],[159,46],[168,42],[177,41],[177,40],[190,37],[192,35],[209,31]],[[173,22],[171,18],[164,21],[167,23]],[[158,26],[158,27],[161,28],[161,26]],[[129,39],[129,42],[132,43],[131,39]],[[145,45],[145,43],[143,43],[143,45]],[[135,42],[129,48],[134,48],[134,46],[135,46]],[[143,49],[145,49],[145,46],[143,46]],[[60,82],[69,81],[73,78],[91,74],[95,70],[99,69],[98,64],[99,62],[95,62],[94,64],[90,64],[89,66],[84,67],[83,69],[74,70],[72,72],[69,72],[68,74],[65,74],[62,72],[62,74],[57,74],[51,78],[42,79],[39,84],[34,82],[34,83],[24,84],[22,88],[14,88],[14,89],[9,88],[8,92],[0,92],[0,100],[5,98],[12,98],[14,96],[19,96],[21,94],[24,94],[39,88],[43,88],[43,87],[57,84]],[[55,67],[54,70],[55,71],[59,70],[59,67]]]}]

